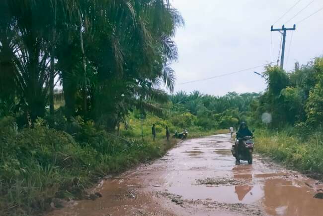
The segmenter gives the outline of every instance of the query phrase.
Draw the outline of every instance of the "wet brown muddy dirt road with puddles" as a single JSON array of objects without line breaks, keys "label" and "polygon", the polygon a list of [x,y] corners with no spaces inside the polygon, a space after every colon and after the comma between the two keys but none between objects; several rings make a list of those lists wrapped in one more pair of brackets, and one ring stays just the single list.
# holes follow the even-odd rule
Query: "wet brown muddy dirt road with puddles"
[{"label": "wet brown muddy dirt road with puddles", "polygon": [[227,134],[184,141],[48,216],[323,216],[322,184],[259,156],[236,166],[230,147]]}]

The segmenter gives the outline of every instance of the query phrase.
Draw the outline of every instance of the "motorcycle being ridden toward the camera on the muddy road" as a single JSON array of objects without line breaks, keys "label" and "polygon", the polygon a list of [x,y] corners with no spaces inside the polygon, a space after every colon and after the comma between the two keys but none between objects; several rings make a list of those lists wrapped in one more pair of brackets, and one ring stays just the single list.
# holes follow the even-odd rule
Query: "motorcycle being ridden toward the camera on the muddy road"
[{"label": "motorcycle being ridden toward the camera on the muddy road", "polygon": [[253,153],[254,141],[252,136],[244,136],[242,140],[238,138],[232,145],[232,155],[237,159],[237,164],[240,164],[240,160],[248,161],[248,164],[252,164],[252,153]]}]

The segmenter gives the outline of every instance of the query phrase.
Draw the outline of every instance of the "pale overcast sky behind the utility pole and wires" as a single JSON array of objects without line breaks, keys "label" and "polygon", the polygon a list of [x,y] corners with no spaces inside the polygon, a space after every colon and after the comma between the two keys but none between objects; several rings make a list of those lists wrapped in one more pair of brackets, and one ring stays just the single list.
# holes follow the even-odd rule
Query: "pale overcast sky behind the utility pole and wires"
[{"label": "pale overcast sky behind the utility pole and wires", "polygon": [[[271,33],[270,26],[297,1],[171,0],[185,19],[185,27],[178,29],[175,37],[179,49],[179,61],[172,65],[177,79],[175,92],[199,90],[204,94],[225,95],[232,91],[264,91],[266,83],[253,73],[262,72],[263,67],[207,81],[180,83],[269,63],[271,34],[272,61],[277,61],[281,34]],[[323,54],[323,10],[298,23],[323,7],[323,0],[314,0],[287,22],[311,1],[301,0],[274,25],[281,28],[282,24],[286,27],[296,24],[296,31],[288,31],[286,37],[284,68],[287,71],[294,69],[295,61],[306,64]]]}]

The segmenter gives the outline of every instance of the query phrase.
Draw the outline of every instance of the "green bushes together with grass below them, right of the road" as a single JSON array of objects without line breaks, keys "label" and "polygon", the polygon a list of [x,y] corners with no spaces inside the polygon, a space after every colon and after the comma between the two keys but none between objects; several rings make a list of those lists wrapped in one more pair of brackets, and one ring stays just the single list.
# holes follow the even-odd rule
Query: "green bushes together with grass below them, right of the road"
[{"label": "green bushes together with grass below them, right of the road", "polygon": [[253,109],[254,125],[263,128],[256,131],[256,151],[322,175],[323,58],[301,67],[296,63],[290,73],[267,67],[264,76],[268,87]]}]

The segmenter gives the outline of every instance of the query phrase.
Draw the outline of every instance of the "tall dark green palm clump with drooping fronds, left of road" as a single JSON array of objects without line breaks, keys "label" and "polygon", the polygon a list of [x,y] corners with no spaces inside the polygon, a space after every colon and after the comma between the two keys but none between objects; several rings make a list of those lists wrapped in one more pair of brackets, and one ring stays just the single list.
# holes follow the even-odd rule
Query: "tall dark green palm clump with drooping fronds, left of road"
[{"label": "tall dark green palm clump with drooping fronds, left of road", "polygon": [[18,98],[32,120],[44,116],[48,101],[53,114],[57,75],[68,116],[99,118],[103,96],[111,116],[138,101],[156,112],[147,103],[164,98],[160,85],[173,91],[169,65],[178,54],[171,38],[184,21],[167,0],[3,0],[1,6],[7,36],[0,37],[0,61],[9,57],[14,66]]}]

